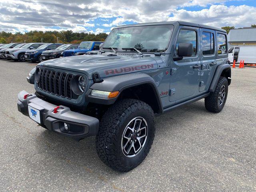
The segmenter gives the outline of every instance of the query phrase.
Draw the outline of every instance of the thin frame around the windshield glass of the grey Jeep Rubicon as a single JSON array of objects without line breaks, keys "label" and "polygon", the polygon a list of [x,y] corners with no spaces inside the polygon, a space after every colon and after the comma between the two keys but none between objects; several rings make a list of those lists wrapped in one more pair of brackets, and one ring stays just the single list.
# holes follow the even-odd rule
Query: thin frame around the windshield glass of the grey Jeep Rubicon
[{"label": "thin frame around the windshield glass of the grey Jeep Rubicon", "polygon": [[[175,30],[174,24],[152,24],[152,25],[147,24],[147,25],[120,26],[120,27],[113,28],[113,29],[111,30],[111,32],[112,32],[113,30],[115,30],[115,29],[120,29],[120,28],[131,28],[131,27],[141,27],[141,26],[143,26],[143,27],[145,27],[145,26],[163,26],[163,25],[171,25],[171,26],[173,27],[172,33],[170,34],[170,38],[168,39],[168,44],[167,44],[166,50],[165,50],[164,52],[143,52],[143,51],[141,51],[141,50],[139,50],[139,51],[140,51],[141,53],[143,53],[143,54],[167,54],[166,52],[169,50],[170,42],[171,42],[171,39],[172,39],[172,34],[173,34],[174,30]],[[111,32],[110,32],[110,34],[111,34]],[[109,35],[110,35],[110,34],[109,34]],[[104,44],[107,42],[107,40],[108,40],[108,38],[109,38],[109,35],[108,35],[107,38],[105,39]],[[113,52],[112,50],[104,49],[103,47],[106,47],[104,44],[101,46],[101,49],[100,49],[100,50],[102,50],[102,51],[104,51],[104,52]],[[120,50],[120,49],[117,49],[117,50],[116,50],[116,49],[115,49],[115,51],[118,52],[118,53],[138,54],[138,52],[135,51],[135,50],[134,50],[134,51],[132,51],[132,50],[127,51],[127,50]]]}]

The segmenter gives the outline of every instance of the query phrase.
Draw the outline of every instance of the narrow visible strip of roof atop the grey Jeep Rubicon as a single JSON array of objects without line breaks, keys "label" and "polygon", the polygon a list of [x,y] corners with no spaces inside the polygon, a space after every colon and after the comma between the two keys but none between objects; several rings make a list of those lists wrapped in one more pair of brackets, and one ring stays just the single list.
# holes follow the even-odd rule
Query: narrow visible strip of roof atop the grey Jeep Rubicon
[{"label": "narrow visible strip of roof atop the grey Jeep Rubicon", "polygon": [[179,25],[184,25],[184,26],[200,27],[200,28],[212,29],[212,30],[217,30],[217,31],[226,33],[226,30],[223,30],[222,28],[212,27],[212,26],[208,26],[208,25],[204,25],[204,24],[196,24],[196,23],[186,22],[186,21],[163,21],[163,22],[139,23],[139,24],[116,26],[115,28],[132,27],[132,26],[147,26],[147,25],[168,25],[168,24],[174,24],[174,25],[179,24]]}]

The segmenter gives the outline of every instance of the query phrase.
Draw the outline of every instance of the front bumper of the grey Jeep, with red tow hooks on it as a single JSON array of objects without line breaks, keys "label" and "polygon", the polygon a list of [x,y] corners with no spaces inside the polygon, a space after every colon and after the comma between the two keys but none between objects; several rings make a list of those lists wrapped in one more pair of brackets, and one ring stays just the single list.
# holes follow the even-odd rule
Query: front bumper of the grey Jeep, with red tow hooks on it
[{"label": "front bumper of the grey Jeep, with red tow hooks on it", "polygon": [[[40,111],[40,125],[58,134],[80,140],[89,136],[95,136],[99,128],[97,118],[73,112],[66,106],[60,106],[58,112],[54,113],[57,106],[38,98],[35,94],[29,94],[26,99],[26,91],[18,94],[18,111],[29,116],[28,104]],[[68,130],[64,129],[64,123],[68,124]]]}]

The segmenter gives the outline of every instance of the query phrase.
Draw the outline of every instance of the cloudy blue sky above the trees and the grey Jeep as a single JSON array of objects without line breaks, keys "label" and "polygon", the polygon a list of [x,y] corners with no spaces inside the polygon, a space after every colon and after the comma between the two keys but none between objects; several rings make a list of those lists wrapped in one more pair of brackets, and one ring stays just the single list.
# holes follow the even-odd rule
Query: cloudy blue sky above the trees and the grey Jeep
[{"label": "cloudy blue sky above the trees and the grey Jeep", "polygon": [[110,32],[114,26],[185,20],[212,26],[256,24],[256,0],[1,0],[0,31]]}]

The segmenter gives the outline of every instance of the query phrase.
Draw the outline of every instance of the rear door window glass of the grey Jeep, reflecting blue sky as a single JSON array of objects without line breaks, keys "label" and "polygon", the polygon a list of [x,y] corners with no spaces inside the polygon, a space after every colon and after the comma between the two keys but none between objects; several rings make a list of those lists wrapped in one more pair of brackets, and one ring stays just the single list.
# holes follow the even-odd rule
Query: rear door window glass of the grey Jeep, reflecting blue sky
[{"label": "rear door window glass of the grey Jeep, reflecting blue sky", "polygon": [[214,53],[214,36],[210,32],[202,32],[203,55]]}]

